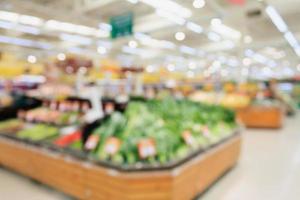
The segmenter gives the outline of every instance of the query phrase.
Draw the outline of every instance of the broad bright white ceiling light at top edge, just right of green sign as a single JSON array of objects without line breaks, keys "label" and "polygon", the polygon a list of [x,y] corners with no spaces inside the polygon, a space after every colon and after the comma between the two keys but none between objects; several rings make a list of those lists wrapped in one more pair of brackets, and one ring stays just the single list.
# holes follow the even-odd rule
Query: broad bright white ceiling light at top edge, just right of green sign
[{"label": "broad bright white ceiling light at top edge, just right of green sign", "polygon": [[148,4],[156,9],[172,13],[175,16],[183,18],[189,18],[192,16],[192,11],[190,9],[171,0],[140,0],[140,2]]}]

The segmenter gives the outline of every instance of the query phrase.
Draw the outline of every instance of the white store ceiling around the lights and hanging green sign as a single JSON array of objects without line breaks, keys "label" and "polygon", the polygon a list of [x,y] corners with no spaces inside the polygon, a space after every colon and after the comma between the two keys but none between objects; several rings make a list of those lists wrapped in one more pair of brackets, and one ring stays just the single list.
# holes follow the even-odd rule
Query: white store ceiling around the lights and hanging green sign
[{"label": "white store ceiling around the lights and hanging green sign", "polygon": [[[162,1],[162,0],[161,0]],[[195,33],[186,28],[185,25],[178,25],[155,13],[155,9],[143,2],[132,4],[128,0],[2,0],[0,8],[2,10],[37,16],[45,20],[59,20],[79,25],[98,28],[99,23],[108,23],[109,18],[128,11],[132,11],[135,17],[134,31],[144,33],[158,41],[169,41],[176,45],[174,49],[155,48],[149,44],[139,43],[137,48],[138,55],[132,56],[135,63],[160,63],[165,61],[167,56],[183,56],[186,59],[201,60],[208,56],[198,53],[189,55],[180,51],[180,46],[185,45],[198,51],[205,51],[212,55],[235,56],[238,59],[244,57],[244,50],[251,48],[261,52],[264,56],[274,59],[272,54],[265,54],[265,47],[274,47],[277,51],[284,51],[285,57],[280,62],[288,60],[291,64],[298,64],[299,58],[293,49],[284,40],[283,35],[275,28],[271,20],[264,12],[264,6],[256,0],[248,0],[244,6],[236,6],[228,3],[227,0],[206,0],[204,8],[196,9],[193,7],[193,0],[173,0],[181,6],[192,11],[192,16],[187,20],[194,22],[204,28],[204,33]],[[290,30],[300,39],[300,1],[299,0],[269,0],[269,5],[273,5],[282,15]],[[247,12],[260,10],[261,15],[248,17]],[[179,13],[180,14],[180,13]],[[241,32],[242,36],[249,35],[253,39],[251,43],[245,44],[243,40],[234,41],[235,46],[228,43],[228,39],[222,38],[225,42],[212,42],[208,39],[207,33],[211,31],[210,21],[213,18],[221,18],[227,26]],[[186,34],[184,41],[177,41],[174,34],[183,31]],[[97,42],[100,45],[104,42],[111,43],[109,56],[118,58],[128,52],[122,52],[129,40],[136,40],[134,36],[111,40],[109,38],[92,37],[90,45],[76,45],[60,40],[60,32],[42,30],[40,35],[21,33],[13,30],[0,29],[1,35],[21,37],[35,41],[43,41],[53,46],[50,50],[42,51],[39,49],[28,49],[26,52],[19,51],[19,47],[2,45],[2,49],[18,51],[24,55],[30,53],[38,56],[56,54],[67,51],[71,47],[80,47],[85,54],[100,56],[97,54]],[[153,42],[154,43],[154,42]],[[123,49],[124,50],[124,49]],[[141,54],[139,54],[141,53]],[[145,55],[145,56],[141,56]],[[130,56],[130,55],[129,55]],[[103,57],[103,56],[102,56]],[[124,56],[123,56],[124,58]],[[211,60],[215,59],[211,57]]]}]

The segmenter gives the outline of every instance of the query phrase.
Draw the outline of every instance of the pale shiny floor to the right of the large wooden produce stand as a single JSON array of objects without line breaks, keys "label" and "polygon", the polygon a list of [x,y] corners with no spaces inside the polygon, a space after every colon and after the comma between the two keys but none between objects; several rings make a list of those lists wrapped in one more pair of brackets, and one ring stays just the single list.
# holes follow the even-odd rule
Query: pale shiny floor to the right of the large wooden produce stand
[{"label": "pale shiny floor to the right of the large wooden produce stand", "polygon": [[238,166],[201,200],[298,200],[300,115],[281,130],[248,130]]}]

